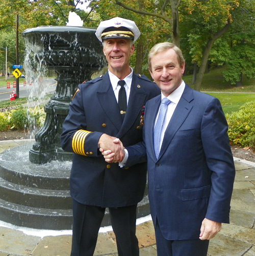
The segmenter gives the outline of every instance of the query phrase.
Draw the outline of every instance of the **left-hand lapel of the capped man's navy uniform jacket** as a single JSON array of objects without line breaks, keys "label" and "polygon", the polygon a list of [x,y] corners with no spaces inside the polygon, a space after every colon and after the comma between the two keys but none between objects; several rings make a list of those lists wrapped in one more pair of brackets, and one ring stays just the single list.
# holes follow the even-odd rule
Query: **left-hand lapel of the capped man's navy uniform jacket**
[{"label": "left-hand lapel of the capped man's navy uniform jacket", "polygon": [[108,72],[101,80],[101,85],[97,91],[97,98],[107,117],[111,120],[112,124],[118,130],[120,130],[122,125],[122,118]]}]

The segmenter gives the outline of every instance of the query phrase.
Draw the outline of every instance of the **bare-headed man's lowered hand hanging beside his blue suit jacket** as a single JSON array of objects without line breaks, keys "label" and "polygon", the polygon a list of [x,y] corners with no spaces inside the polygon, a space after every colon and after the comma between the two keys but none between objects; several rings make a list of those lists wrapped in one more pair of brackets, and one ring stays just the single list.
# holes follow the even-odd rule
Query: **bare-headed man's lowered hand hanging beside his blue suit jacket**
[{"label": "bare-headed man's lowered hand hanging beside his blue suit jacket", "polygon": [[216,236],[216,234],[220,231],[220,229],[221,229],[220,222],[212,221],[205,218],[202,221],[199,239],[210,240]]}]

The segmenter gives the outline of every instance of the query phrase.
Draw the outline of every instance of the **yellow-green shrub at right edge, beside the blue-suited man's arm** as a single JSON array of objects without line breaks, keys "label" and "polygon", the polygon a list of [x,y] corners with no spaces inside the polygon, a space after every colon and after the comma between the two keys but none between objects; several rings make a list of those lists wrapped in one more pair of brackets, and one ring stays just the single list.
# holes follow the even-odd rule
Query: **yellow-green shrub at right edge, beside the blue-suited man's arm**
[{"label": "yellow-green shrub at right edge, beside the blue-suited man's arm", "polygon": [[225,114],[230,144],[246,147],[249,137],[255,135],[255,101],[245,103],[240,110]]}]

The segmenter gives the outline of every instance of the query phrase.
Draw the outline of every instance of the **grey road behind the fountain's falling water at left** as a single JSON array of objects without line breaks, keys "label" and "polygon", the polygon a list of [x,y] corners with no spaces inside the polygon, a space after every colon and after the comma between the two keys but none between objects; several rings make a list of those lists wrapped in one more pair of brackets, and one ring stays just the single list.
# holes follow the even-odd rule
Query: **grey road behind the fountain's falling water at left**
[{"label": "grey road behind the fountain's falling water at left", "polygon": [[[54,92],[56,89],[57,82],[52,78],[44,78],[43,83],[46,86],[46,94],[49,94],[50,92]],[[16,93],[16,88],[13,88],[13,85],[11,84],[11,88],[0,87],[0,101],[6,101],[10,99],[10,94],[12,94],[13,89]],[[37,88],[34,88],[34,86],[27,84],[26,86],[23,86],[23,83],[19,84],[19,98],[29,97],[31,95],[31,92],[35,94],[34,91],[36,91]]]}]

